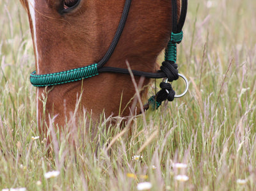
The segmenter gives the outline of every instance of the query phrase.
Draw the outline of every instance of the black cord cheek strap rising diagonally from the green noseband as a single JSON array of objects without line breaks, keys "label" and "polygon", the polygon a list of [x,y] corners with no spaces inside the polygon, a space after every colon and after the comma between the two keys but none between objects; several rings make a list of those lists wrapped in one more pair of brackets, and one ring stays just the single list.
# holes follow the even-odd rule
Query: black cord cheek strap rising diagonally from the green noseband
[{"label": "black cord cheek strap rising diagonally from the green noseband", "polygon": [[123,32],[124,26],[125,26],[125,22],[127,20],[128,17],[128,13],[129,13],[129,9],[131,6],[131,0],[126,0],[125,1],[125,5],[124,5],[124,11],[122,13],[122,17],[120,19],[120,22],[118,24],[118,28],[116,29],[116,33],[115,36],[111,42],[111,45],[109,46],[108,51],[106,52],[106,54],[104,55],[104,57],[99,61],[99,63],[97,63],[97,68],[101,68],[103,65],[106,64],[106,62],[109,60],[109,58],[111,57],[111,55],[113,54],[116,45],[118,44],[118,41],[120,39],[120,36]]}]

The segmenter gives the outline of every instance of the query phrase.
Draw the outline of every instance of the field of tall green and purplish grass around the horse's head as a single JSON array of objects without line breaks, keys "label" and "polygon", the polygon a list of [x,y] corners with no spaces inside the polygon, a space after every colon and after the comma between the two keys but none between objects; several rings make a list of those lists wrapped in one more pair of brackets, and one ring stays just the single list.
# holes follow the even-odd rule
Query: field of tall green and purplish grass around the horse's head
[{"label": "field of tall green and purplish grass around the horse's head", "polygon": [[[92,141],[82,121],[76,149],[70,134],[56,132],[47,155],[36,137],[28,19],[18,0],[1,0],[0,190],[137,190],[145,181],[150,190],[256,190],[255,8],[250,0],[189,1],[178,45],[188,94],[131,119],[129,139],[118,125],[104,130],[102,118]],[[46,178],[49,171],[60,174]]]}]

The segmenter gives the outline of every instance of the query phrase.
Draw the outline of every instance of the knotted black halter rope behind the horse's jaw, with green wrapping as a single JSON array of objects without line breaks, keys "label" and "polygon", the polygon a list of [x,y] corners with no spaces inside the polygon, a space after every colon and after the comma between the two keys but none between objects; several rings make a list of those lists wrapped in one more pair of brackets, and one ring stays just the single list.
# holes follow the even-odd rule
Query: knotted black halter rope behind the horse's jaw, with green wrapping
[{"label": "knotted black halter rope behind the horse's jaw, with green wrapping", "polygon": [[[177,2],[177,1],[176,1]],[[175,0],[172,0],[172,34],[170,40],[165,49],[164,61],[160,67],[161,71],[166,74],[165,82],[160,83],[161,90],[156,93],[156,95],[151,96],[148,99],[148,103],[144,106],[144,109],[147,110],[151,107],[153,110],[158,109],[161,103],[165,100],[172,102],[175,98],[175,91],[172,89],[172,85],[169,82],[179,79],[179,71],[177,61],[177,43],[180,43],[183,38],[182,27],[186,19],[186,12],[188,8],[188,2],[182,0],[182,8],[180,11],[180,19],[177,24],[178,14],[177,14],[177,3]],[[182,78],[186,81],[186,91],[188,89],[188,84],[186,78],[183,75]]]}]

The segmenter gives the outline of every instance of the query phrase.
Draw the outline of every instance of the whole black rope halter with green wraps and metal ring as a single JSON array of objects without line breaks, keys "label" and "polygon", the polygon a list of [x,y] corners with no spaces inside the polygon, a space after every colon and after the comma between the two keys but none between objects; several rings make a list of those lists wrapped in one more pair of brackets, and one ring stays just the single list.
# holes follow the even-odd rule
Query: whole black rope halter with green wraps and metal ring
[{"label": "whole black rope halter with green wraps and metal ring", "polygon": [[[104,65],[109,60],[115,50],[116,45],[118,44],[118,41],[125,26],[125,22],[127,20],[131,1],[132,0],[125,1],[122,17],[118,24],[118,28],[116,30],[113,41],[111,42],[108,51],[99,61],[99,63],[93,63],[92,65],[84,66],[82,68],[43,75],[36,74],[36,72],[34,71],[30,75],[31,84],[36,87],[54,86],[58,84],[65,84],[68,82],[75,82],[77,80],[85,79],[88,77],[93,77],[102,72],[129,74],[129,70],[125,68],[115,68]],[[188,0],[182,0],[180,18],[178,22],[177,0],[172,0],[172,34],[170,36],[170,41],[168,42],[168,45],[165,49],[164,61],[162,63],[162,66],[160,67],[161,70],[157,71],[157,73],[132,70],[133,75],[136,76],[143,76],[153,79],[165,79],[160,84],[161,90],[157,92],[155,96],[149,98],[148,103],[145,105],[145,109],[148,109],[149,106],[152,107],[152,109],[157,109],[164,100],[168,100],[171,102],[175,97],[178,98],[184,96],[188,91],[188,80],[184,75],[178,73],[178,65],[176,64],[177,43],[180,43],[183,37],[182,27],[184,26],[184,22],[186,19],[187,8]],[[186,82],[186,89],[181,95],[175,96],[175,91],[173,91],[172,85],[169,84],[168,81],[172,82],[173,80],[177,80],[179,77],[182,77],[182,79],[184,79],[184,81]]]}]

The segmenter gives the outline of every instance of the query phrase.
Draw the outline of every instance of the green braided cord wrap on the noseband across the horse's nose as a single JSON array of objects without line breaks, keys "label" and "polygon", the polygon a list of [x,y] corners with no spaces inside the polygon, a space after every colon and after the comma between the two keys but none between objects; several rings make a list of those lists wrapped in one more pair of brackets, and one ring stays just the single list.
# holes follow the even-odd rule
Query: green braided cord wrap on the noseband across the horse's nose
[{"label": "green braided cord wrap on the noseband across the horse's nose", "polygon": [[34,71],[30,75],[30,82],[36,87],[54,86],[68,82],[75,82],[98,74],[97,64],[93,64],[64,72],[48,73],[43,75],[37,75]]}]

